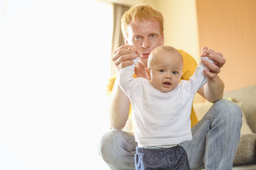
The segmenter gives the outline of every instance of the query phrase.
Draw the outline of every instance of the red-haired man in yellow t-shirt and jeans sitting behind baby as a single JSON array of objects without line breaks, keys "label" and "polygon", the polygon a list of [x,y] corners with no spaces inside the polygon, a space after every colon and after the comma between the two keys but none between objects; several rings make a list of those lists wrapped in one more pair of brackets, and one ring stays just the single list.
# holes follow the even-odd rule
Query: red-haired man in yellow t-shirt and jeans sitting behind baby
[{"label": "red-haired man in yellow t-shirt and jeans sitting behind baby", "polygon": [[[141,56],[134,69],[134,76],[146,78],[145,67],[150,52],[164,43],[161,13],[150,6],[134,6],[122,17],[122,32],[125,45],[119,47],[113,54],[116,72],[132,64],[136,54],[131,49],[136,49],[140,50]],[[203,50],[202,54],[208,53],[215,64],[202,60],[211,71],[204,70],[208,80],[198,93],[214,104],[198,123],[192,109],[193,139],[180,145],[188,153],[191,169],[232,169],[240,138],[241,109],[236,104],[222,99],[224,84],[218,73],[225,64],[225,58],[220,52],[214,52],[207,47]],[[195,71],[196,62],[188,53],[179,51],[184,60],[182,79],[188,80]],[[115,79],[111,79],[110,82],[109,87],[113,86],[109,111],[112,129],[104,134],[100,141],[100,155],[111,169],[135,169],[134,153],[137,143],[133,134],[122,131],[129,117],[129,98],[115,83]]]}]

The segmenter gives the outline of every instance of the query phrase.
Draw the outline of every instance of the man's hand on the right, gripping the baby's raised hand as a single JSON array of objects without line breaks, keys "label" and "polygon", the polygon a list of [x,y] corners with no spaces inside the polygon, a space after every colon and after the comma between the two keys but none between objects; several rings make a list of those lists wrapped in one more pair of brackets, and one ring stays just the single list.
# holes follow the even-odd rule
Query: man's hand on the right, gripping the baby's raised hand
[{"label": "man's hand on the right, gripping the baby's raised hand", "polygon": [[212,49],[208,49],[208,47],[204,47],[202,49],[202,56],[201,57],[209,57],[212,59],[214,63],[211,63],[210,61],[207,61],[206,59],[202,59],[202,63],[209,69],[204,70],[204,74],[209,78],[213,79],[216,77],[218,73],[220,73],[220,68],[225,64],[225,58],[223,58],[223,55],[220,52],[214,52]]}]

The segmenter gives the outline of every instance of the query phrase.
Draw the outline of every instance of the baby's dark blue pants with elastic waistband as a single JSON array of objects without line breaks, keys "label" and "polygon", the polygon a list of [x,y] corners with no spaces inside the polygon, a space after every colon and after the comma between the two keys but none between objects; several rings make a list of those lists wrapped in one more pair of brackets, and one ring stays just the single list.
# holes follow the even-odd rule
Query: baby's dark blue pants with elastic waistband
[{"label": "baby's dark blue pants with elastic waistband", "polygon": [[172,148],[136,147],[136,170],[190,170],[188,156],[182,146]]}]

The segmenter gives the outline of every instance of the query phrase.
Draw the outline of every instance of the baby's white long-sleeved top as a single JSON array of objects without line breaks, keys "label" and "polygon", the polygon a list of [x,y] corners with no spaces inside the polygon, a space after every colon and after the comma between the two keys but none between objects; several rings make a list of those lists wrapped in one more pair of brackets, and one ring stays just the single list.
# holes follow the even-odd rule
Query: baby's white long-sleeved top
[{"label": "baby's white long-sleeved top", "polygon": [[120,70],[117,79],[131,102],[138,144],[161,146],[191,140],[192,102],[196,91],[207,82],[203,72],[206,67],[200,63],[189,81],[182,80],[173,91],[164,93],[147,79],[134,79],[135,65],[136,61]]}]

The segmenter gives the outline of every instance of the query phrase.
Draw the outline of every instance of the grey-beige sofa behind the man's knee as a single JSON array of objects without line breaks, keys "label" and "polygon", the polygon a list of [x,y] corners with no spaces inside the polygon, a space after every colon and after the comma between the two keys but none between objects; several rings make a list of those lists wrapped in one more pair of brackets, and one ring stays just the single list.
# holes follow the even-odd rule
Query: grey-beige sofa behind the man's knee
[{"label": "grey-beige sofa behind the man's knee", "polygon": [[[225,91],[224,98],[236,102],[243,112],[241,139],[234,157],[233,169],[256,169],[256,85]],[[211,103],[193,104],[200,120]]]}]

